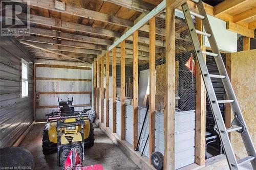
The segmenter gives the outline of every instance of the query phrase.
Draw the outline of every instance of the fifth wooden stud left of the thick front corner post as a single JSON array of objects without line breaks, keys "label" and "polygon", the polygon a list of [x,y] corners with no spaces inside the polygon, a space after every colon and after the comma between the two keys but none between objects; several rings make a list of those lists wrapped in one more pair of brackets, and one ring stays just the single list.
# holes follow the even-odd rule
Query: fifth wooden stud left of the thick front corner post
[{"label": "fifth wooden stud left of the thick front corner post", "polygon": [[110,112],[109,112],[109,85],[110,85],[110,53],[106,52],[106,127],[110,127]]}]

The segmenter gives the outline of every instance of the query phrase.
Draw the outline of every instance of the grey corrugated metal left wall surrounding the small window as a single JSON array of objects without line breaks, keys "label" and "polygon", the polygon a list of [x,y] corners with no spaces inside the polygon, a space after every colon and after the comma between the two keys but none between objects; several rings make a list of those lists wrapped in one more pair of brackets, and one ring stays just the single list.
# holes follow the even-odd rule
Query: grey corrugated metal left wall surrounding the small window
[{"label": "grey corrugated metal left wall surrounding the small window", "polygon": [[29,96],[20,98],[20,60],[33,58],[12,37],[0,41],[0,148],[10,147],[33,122],[33,65],[29,64]]}]

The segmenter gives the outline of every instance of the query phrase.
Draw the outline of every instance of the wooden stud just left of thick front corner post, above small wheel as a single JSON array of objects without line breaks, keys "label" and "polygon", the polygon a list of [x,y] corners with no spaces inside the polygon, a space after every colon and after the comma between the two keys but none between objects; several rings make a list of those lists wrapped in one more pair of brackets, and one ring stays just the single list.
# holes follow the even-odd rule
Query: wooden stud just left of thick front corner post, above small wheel
[{"label": "wooden stud just left of thick front corner post, above small wheel", "polygon": [[[156,18],[150,19],[150,108],[149,108],[149,156],[155,152],[155,110],[156,110]],[[151,163],[151,159],[150,159]]]}]

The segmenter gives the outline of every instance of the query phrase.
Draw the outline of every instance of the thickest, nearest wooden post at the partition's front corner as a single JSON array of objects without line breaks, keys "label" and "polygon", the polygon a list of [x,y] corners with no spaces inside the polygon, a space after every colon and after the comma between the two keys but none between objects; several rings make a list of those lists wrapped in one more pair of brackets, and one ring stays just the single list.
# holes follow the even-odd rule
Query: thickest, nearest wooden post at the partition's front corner
[{"label": "thickest, nearest wooden post at the partition's front corner", "polygon": [[164,169],[175,169],[175,9],[166,1]]}]

